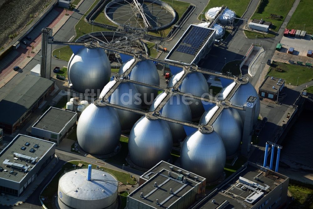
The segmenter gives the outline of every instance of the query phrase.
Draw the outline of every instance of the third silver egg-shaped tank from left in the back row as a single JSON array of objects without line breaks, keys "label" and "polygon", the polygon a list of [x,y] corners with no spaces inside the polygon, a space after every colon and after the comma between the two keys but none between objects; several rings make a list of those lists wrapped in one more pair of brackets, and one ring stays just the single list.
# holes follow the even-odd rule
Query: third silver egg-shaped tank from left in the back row
[{"label": "third silver egg-shaped tank from left in the back row", "polygon": [[[176,75],[172,76],[171,80],[168,83],[167,87],[172,87],[177,79],[182,76],[183,71],[178,72]],[[182,85],[180,87],[180,92],[189,93],[195,96],[203,96],[203,94],[209,93],[209,87],[206,79],[203,74],[200,72],[192,72],[189,73],[185,79],[182,81]],[[199,118],[204,112],[204,108],[201,100],[199,99],[191,99],[187,100],[192,102],[190,106],[192,118]]]}]

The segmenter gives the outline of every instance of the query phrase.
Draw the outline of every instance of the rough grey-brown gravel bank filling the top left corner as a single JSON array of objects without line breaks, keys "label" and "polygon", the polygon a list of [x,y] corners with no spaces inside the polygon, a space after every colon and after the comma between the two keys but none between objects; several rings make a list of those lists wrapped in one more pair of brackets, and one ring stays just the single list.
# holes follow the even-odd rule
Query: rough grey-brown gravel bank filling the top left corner
[{"label": "rough grey-brown gravel bank filling the top left corner", "polygon": [[37,17],[52,0],[7,0],[0,7],[0,48],[12,39],[9,35],[18,34],[26,24]]}]

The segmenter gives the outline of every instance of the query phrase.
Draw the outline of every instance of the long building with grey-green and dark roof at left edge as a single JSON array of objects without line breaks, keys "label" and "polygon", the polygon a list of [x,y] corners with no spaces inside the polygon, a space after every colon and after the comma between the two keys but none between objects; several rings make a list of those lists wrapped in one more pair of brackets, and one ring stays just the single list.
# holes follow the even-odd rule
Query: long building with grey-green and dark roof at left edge
[{"label": "long building with grey-green and dark roof at left edge", "polygon": [[0,101],[0,127],[13,133],[54,90],[54,81],[26,76]]}]

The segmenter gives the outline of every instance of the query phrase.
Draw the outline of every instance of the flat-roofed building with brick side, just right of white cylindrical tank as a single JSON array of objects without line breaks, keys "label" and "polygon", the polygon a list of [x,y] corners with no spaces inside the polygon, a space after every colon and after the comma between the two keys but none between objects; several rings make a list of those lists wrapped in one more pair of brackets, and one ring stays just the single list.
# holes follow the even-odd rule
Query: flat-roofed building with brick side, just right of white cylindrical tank
[{"label": "flat-roofed building with brick side, just right of white cylindrical tank", "polygon": [[206,179],[161,161],[141,175],[139,187],[127,196],[128,209],[190,207],[204,194]]}]

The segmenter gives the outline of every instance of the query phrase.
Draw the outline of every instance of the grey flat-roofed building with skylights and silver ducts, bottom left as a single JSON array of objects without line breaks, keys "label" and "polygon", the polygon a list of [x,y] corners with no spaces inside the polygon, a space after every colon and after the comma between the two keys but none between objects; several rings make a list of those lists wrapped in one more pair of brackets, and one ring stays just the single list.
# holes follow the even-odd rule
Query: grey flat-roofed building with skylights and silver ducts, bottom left
[{"label": "grey flat-roofed building with skylights and silver ducts, bottom left", "polygon": [[54,153],[54,142],[18,134],[0,153],[0,192],[20,196]]}]

